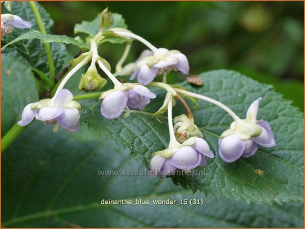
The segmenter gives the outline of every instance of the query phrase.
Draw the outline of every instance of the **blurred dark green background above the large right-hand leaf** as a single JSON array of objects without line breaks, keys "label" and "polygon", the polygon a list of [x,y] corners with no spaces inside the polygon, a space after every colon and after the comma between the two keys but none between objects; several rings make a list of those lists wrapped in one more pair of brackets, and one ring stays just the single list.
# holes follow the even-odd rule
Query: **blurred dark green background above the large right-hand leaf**
[{"label": "blurred dark green background above the large right-hand leaf", "polygon": [[[55,34],[75,36],[75,23],[93,20],[108,6],[110,11],[123,15],[129,30],[156,47],[184,53],[190,62],[190,74],[222,68],[237,70],[272,84],[275,91],[304,110],[302,1],[40,3],[54,20]],[[133,62],[143,48],[141,43],[134,42],[126,63]],[[124,45],[102,46],[103,57],[112,66],[123,50]],[[72,48],[70,52],[75,54],[77,50]]]}]

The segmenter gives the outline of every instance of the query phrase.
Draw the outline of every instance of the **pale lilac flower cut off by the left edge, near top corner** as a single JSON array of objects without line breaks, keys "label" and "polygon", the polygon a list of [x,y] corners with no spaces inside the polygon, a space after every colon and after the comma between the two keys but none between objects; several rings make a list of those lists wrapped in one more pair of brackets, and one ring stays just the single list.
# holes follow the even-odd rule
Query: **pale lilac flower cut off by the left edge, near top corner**
[{"label": "pale lilac flower cut off by the left edge, near top corner", "polygon": [[1,34],[7,35],[13,31],[13,29],[25,29],[31,28],[32,23],[22,20],[21,17],[13,14],[1,14]]}]

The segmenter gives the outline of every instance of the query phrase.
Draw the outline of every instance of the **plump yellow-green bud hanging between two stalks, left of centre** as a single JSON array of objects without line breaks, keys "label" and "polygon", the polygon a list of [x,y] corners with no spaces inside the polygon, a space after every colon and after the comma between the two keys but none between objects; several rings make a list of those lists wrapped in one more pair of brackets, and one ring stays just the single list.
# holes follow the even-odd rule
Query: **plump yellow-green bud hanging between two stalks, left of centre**
[{"label": "plump yellow-green bud hanging between two stalks, left of centre", "polygon": [[85,74],[82,74],[78,88],[83,92],[100,90],[106,82],[107,80],[100,76],[95,67],[89,67],[88,71]]}]

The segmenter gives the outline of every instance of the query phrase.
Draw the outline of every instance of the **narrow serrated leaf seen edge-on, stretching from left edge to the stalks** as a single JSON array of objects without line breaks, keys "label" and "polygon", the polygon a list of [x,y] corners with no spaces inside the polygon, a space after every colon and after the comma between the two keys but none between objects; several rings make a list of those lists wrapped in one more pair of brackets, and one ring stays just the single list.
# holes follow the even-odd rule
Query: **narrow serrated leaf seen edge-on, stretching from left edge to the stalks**
[{"label": "narrow serrated leaf seen edge-on, stretching from left edge to the stalks", "polygon": [[89,49],[88,44],[75,40],[74,38],[68,37],[66,35],[43,34],[43,33],[39,33],[36,31],[30,31],[30,32],[22,34],[21,36],[18,36],[16,39],[14,39],[11,42],[9,42],[8,44],[4,45],[1,48],[1,51],[3,49],[5,49],[5,47],[7,47],[11,44],[14,44],[21,40],[29,40],[29,39],[39,39],[40,42],[42,42],[42,43],[58,42],[58,43],[72,44],[72,45],[78,46],[79,48]]}]

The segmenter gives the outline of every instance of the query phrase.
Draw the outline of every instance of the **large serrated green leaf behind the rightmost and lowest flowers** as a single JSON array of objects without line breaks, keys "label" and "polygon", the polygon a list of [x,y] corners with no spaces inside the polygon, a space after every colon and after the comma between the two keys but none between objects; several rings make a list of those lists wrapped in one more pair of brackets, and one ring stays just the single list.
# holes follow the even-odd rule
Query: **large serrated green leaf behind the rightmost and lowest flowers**
[{"label": "large serrated green leaf behind the rightmost and lowest flowers", "polygon": [[[250,203],[303,202],[304,164],[303,164],[303,113],[290,105],[273,91],[271,86],[260,84],[234,71],[218,70],[201,75],[204,86],[191,87],[182,83],[190,91],[220,100],[232,108],[237,115],[245,118],[249,105],[262,97],[258,119],[268,120],[275,136],[276,146],[260,147],[255,156],[240,158],[227,164],[217,155],[218,138],[229,128],[232,118],[219,107],[205,101],[194,110],[195,124],[203,132],[204,139],[216,153],[215,159],[207,159],[204,176],[174,176],[173,182],[186,189],[203,191],[218,199],[243,199]],[[165,92],[155,91],[158,98]],[[162,99],[154,99],[143,111],[133,111],[124,119],[102,118],[100,103],[83,109],[82,120],[101,134],[115,139],[119,144],[131,149],[148,167],[152,153],[165,149],[169,143],[166,116],[153,116],[162,106]],[[192,104],[190,103],[190,106]],[[185,113],[181,105],[174,107],[174,115]],[[264,175],[255,171],[263,170]]]}]

